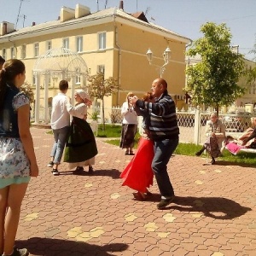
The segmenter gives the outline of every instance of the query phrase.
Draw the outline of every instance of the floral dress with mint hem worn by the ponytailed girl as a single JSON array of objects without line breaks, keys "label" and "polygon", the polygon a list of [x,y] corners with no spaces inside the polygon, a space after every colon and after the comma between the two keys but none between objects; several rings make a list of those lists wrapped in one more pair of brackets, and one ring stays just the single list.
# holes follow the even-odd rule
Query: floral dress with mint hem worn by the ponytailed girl
[{"label": "floral dress with mint hem worn by the ponytailed girl", "polygon": [[[18,93],[13,100],[16,111],[29,104],[24,93]],[[0,189],[13,183],[28,183],[30,180],[30,162],[26,156],[20,138],[0,137]]]}]

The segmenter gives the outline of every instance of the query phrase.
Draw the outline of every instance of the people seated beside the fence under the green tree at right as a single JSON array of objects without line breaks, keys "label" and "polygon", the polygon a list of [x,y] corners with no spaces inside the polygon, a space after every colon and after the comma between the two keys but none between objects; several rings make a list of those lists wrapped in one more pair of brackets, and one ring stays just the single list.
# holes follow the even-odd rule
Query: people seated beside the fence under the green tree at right
[{"label": "people seated beside the fence under the green tree at right", "polygon": [[226,136],[225,125],[218,119],[217,113],[212,113],[206,125],[207,140],[195,155],[200,156],[206,150],[212,158],[212,165],[214,165],[215,159],[222,155],[224,148],[228,149],[232,154],[237,154],[241,148],[256,148],[255,117],[251,118],[251,123],[252,127],[247,128],[240,137]]}]

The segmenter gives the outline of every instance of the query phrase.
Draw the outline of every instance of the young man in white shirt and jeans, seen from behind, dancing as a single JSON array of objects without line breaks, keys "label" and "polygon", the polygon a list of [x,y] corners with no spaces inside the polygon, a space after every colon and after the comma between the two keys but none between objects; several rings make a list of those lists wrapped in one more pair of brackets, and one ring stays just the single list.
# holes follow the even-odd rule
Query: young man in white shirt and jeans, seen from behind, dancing
[{"label": "young man in white shirt and jeans, seen from behind, dancing", "polygon": [[61,157],[67,141],[67,133],[70,125],[70,115],[67,112],[67,80],[61,80],[59,84],[60,92],[52,99],[52,111],[50,118],[50,126],[54,134],[55,142],[51,149],[48,167],[53,167],[52,174],[60,175],[58,166],[61,163]]}]

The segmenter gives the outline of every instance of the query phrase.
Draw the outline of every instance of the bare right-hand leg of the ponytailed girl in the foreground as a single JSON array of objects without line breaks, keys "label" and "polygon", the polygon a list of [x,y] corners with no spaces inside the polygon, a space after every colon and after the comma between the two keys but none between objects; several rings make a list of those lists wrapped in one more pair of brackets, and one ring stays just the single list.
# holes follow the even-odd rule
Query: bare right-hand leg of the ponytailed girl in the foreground
[{"label": "bare right-hand leg of the ponytailed girl in the foreground", "polygon": [[28,183],[12,184],[9,186],[8,194],[8,210],[5,218],[5,237],[4,237],[4,254],[13,253],[15,246],[15,236],[18,229],[20,220],[20,207],[24,195],[26,194],[26,188]]}]

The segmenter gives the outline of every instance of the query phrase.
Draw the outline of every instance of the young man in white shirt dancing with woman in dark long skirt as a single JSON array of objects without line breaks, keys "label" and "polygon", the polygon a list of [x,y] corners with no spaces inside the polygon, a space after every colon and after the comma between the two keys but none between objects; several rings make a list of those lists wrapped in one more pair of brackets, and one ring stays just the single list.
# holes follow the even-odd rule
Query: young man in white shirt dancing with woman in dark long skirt
[{"label": "young man in white shirt dancing with woman in dark long skirt", "polygon": [[[58,166],[64,153],[63,161],[68,163],[73,172],[84,172],[84,166],[89,166],[89,173],[93,173],[95,156],[97,154],[96,140],[90,125],[86,121],[87,108],[91,105],[90,96],[84,90],[76,90],[71,104],[66,95],[67,80],[61,80],[60,92],[53,97],[50,125],[54,134],[54,144],[50,153],[48,166],[52,167],[52,174],[60,175]],[[72,122],[70,123],[70,115]]]}]

